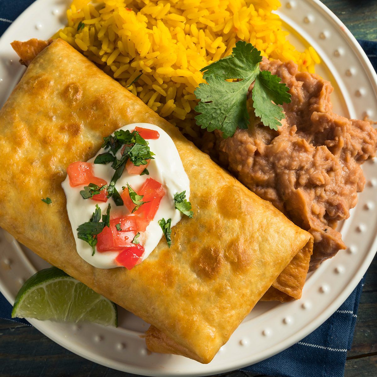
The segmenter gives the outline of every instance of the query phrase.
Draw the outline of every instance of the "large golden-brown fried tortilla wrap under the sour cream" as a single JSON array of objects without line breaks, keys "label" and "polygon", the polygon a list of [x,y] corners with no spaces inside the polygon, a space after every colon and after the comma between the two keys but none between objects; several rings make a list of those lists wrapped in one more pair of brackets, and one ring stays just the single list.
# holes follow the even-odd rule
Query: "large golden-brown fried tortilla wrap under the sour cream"
[{"label": "large golden-brown fried tortilla wrap under the sour cream", "polygon": [[[63,40],[31,62],[0,122],[1,227],[152,324],[171,339],[171,352],[210,362],[292,258],[311,245],[307,231]],[[194,217],[172,228],[170,248],[161,239],[132,270],[95,268],[77,254],[61,182],[70,163],[87,161],[103,137],[137,122],[156,124],[173,139],[190,179]],[[41,201],[46,197],[51,204]]]}]

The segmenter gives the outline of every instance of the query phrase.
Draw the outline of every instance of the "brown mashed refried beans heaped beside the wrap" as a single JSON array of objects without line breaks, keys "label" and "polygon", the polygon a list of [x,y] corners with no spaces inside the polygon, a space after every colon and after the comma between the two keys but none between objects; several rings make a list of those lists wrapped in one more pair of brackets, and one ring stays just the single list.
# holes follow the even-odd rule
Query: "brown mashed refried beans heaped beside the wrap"
[{"label": "brown mashed refried beans heaped beside the wrap", "polygon": [[206,133],[202,150],[313,234],[314,270],[345,248],[337,222],[349,217],[364,188],[360,165],[375,155],[377,132],[371,122],[333,113],[333,87],[318,75],[279,60],[264,59],[260,67],[290,88],[282,126],[274,131],[251,120],[227,139],[216,130]]}]

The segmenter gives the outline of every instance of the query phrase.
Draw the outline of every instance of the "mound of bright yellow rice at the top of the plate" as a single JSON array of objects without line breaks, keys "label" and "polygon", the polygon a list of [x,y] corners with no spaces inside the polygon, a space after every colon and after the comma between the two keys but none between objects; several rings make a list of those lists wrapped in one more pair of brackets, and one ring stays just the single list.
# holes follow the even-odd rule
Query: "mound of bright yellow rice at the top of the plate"
[{"label": "mound of bright yellow rice at the top of the plate", "polygon": [[236,41],[314,72],[317,53],[312,47],[299,52],[287,41],[288,32],[271,12],[279,6],[278,0],[74,0],[68,25],[54,38],[66,40],[195,137],[193,93],[204,82],[200,69],[229,55]]}]

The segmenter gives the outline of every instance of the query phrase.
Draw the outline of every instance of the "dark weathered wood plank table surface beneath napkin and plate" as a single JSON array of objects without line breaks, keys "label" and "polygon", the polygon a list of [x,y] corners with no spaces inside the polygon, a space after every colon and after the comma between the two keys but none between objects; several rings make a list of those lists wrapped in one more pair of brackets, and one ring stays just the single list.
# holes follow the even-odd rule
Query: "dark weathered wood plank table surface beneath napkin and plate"
[{"label": "dark weathered wood plank table surface beneath napkin and plate", "polygon": [[[298,0],[302,1],[302,0]],[[323,0],[356,38],[377,40],[377,1]],[[134,376],[95,364],[62,348],[33,327],[0,319],[0,377]],[[220,375],[219,375],[220,376]],[[255,377],[242,371],[227,377]],[[377,376],[377,258],[369,267],[345,377]],[[302,376],[305,377],[305,376]]]}]

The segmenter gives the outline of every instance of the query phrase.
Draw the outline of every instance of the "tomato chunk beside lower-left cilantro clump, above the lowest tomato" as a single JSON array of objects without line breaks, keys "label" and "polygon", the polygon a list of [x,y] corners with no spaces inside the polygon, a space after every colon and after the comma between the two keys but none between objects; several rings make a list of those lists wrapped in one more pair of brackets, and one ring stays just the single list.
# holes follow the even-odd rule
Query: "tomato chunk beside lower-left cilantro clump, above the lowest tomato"
[{"label": "tomato chunk beside lower-left cilantro clump, above the lowest tomato", "polygon": [[103,231],[97,236],[97,250],[103,251],[122,251],[125,247],[133,247],[132,240],[137,231],[118,231],[116,224],[120,224],[122,218],[110,220],[110,228],[104,227]]}]

